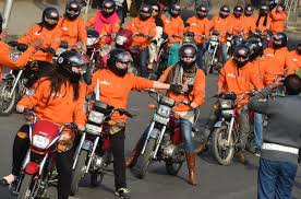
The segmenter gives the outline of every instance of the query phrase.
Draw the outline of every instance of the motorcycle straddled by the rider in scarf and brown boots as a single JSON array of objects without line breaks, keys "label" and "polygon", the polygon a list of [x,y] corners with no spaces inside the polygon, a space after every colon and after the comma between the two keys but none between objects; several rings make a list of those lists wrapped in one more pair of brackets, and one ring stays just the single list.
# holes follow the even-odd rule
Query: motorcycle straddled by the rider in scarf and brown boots
[{"label": "motorcycle straddled by the rider in scarf and brown boots", "polygon": [[[141,154],[133,168],[136,176],[141,179],[145,178],[148,166],[154,161],[164,161],[169,175],[177,175],[185,162],[185,150],[181,139],[180,121],[172,112],[172,108],[181,103],[188,105],[189,102],[174,102],[174,99],[162,94],[149,91],[152,97],[153,94],[156,95],[158,106],[147,129],[147,136],[143,143]],[[197,110],[195,115],[195,121],[197,121]],[[193,133],[196,131],[196,128],[193,128]]]}]

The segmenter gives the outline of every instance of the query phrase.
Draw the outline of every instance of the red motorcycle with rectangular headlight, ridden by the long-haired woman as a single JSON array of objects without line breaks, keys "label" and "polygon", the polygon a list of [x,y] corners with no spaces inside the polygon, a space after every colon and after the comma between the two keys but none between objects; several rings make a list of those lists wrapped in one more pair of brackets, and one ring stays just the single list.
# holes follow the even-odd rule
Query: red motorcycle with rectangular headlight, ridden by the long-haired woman
[{"label": "red motorcycle with rectangular headlight, ridden by the long-haired woman", "polygon": [[23,161],[16,188],[17,199],[47,197],[49,183],[56,175],[57,144],[64,129],[77,129],[74,124],[58,125],[38,119],[34,112],[25,110],[29,125],[31,145]]}]

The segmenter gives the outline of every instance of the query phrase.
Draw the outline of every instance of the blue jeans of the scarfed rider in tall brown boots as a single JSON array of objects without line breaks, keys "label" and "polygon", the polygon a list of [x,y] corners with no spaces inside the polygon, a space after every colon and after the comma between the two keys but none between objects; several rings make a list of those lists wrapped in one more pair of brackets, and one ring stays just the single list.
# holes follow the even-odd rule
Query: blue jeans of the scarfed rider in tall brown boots
[{"label": "blue jeans of the scarfed rider in tall brown boots", "polygon": [[[180,125],[181,125],[181,137],[182,141],[184,143],[185,151],[188,153],[192,153],[194,151],[194,144],[192,141],[192,122],[190,122],[186,119],[180,119]],[[142,147],[146,140],[147,132],[148,132],[149,126],[145,129],[143,132],[142,137],[140,138],[139,142],[140,145]]]}]

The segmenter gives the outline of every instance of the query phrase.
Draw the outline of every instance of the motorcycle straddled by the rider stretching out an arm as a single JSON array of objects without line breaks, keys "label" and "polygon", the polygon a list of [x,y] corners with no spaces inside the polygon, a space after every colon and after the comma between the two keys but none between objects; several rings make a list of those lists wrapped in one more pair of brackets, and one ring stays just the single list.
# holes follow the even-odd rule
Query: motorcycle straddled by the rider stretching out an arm
[{"label": "motorcycle straddled by the rider stretching out an arm", "polygon": [[91,103],[92,109],[88,114],[88,121],[85,131],[82,132],[80,143],[76,148],[73,162],[73,174],[71,182],[71,195],[79,191],[79,184],[85,174],[92,174],[92,184],[101,184],[106,168],[110,164],[110,140],[107,128],[115,125],[110,119],[115,112],[121,115],[133,117],[121,108],[115,108],[100,101]]}]

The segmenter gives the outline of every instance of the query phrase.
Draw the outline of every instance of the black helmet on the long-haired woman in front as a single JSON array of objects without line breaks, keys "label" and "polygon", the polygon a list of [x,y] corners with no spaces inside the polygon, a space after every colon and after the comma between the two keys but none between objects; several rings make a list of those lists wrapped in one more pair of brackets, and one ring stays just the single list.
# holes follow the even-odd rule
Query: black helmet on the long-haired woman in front
[{"label": "black helmet on the long-haired woman in front", "polygon": [[[86,72],[86,67],[89,59],[74,50],[67,50],[62,52],[57,59],[57,70],[67,78],[70,78],[72,82],[79,82],[82,74]],[[81,73],[72,71],[72,67],[82,67]]]}]

